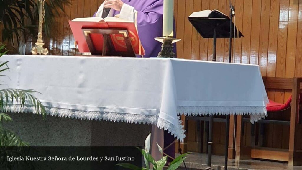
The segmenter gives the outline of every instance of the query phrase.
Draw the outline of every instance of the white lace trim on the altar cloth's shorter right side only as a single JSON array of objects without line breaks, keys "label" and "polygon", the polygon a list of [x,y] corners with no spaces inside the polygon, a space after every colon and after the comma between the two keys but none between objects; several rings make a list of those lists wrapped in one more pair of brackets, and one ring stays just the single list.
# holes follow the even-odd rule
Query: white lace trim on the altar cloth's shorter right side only
[{"label": "white lace trim on the altar cloth's shorter right side only", "polygon": [[251,115],[251,123],[267,117],[265,106],[178,106],[177,113],[185,116],[201,116],[201,115]]}]

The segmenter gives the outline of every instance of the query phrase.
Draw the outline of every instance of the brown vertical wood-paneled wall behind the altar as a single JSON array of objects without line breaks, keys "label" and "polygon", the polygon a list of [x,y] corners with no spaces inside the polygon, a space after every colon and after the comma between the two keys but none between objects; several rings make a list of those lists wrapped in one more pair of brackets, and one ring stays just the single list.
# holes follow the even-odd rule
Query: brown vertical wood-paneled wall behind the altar
[{"label": "brown vertical wood-paneled wall behind the altar", "polygon": [[[56,18],[57,26],[51,38],[44,37],[50,55],[79,54],[68,21],[92,16],[103,1],[71,0],[71,5],[65,6],[66,14]],[[302,77],[302,0],[232,0],[232,3],[236,8],[236,26],[245,36],[235,40],[233,62],[259,64],[263,76]],[[229,0],[175,0],[176,34],[182,39],[177,43],[178,58],[212,59],[213,39],[201,38],[187,19],[192,12],[205,9],[218,9],[229,14]],[[22,53],[30,54],[31,47],[30,40],[22,48]],[[228,62],[228,55],[228,39],[218,39],[217,61]],[[222,84],[221,88],[227,87]],[[283,103],[290,93],[271,89],[268,96]],[[202,147],[197,146],[202,139],[198,136],[202,129],[203,123],[189,122],[189,150],[201,150]],[[249,130],[250,125],[245,125],[245,129]],[[270,134],[265,142],[267,146],[288,148],[289,126],[270,125],[265,130]],[[224,123],[214,123],[214,143],[217,146],[224,144],[224,135]],[[214,153],[219,150],[217,147]]]}]

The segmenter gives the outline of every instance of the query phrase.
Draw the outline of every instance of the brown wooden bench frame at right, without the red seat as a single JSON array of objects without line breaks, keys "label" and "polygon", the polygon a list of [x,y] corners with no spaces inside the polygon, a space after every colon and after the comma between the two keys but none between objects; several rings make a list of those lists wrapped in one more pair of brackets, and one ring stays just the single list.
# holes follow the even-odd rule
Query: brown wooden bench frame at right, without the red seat
[{"label": "brown wooden bench frame at right, without the red seat", "polygon": [[[263,119],[259,123],[252,125],[252,132],[244,132],[244,124],[249,122],[246,116],[237,116],[236,118],[236,149],[238,159],[268,159],[277,161],[286,161],[288,165],[302,165],[302,151],[301,151],[301,136],[302,129],[301,116],[299,118],[299,95],[302,90],[302,78],[277,78],[277,77],[263,77],[265,88],[268,89],[284,89],[291,90],[292,101],[289,108],[278,111],[278,114],[286,114],[288,116],[284,119]],[[272,112],[268,112],[268,115]],[[277,113],[276,113],[277,114]],[[290,116],[289,116],[290,115]],[[282,116],[281,116],[282,117]],[[299,120],[300,119],[300,120]],[[289,145],[288,149],[277,149],[263,147],[263,125],[265,124],[282,124],[289,126]],[[245,138],[244,138],[245,136]],[[246,136],[249,136],[246,138]],[[243,140],[251,139],[251,145],[244,146]],[[232,140],[232,139],[231,139]],[[278,140],[278,139],[274,139]],[[281,139],[280,139],[281,140]],[[274,142],[273,141],[273,142]],[[299,150],[300,149],[300,150]]]}]

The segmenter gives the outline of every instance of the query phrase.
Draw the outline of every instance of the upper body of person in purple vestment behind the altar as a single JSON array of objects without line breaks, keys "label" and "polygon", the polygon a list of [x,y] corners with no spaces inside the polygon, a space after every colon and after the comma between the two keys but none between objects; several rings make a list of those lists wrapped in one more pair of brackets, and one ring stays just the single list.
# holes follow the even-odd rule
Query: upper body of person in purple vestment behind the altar
[{"label": "upper body of person in purple vestment behind the altar", "polygon": [[162,37],[163,0],[105,0],[94,16],[102,17],[104,8],[111,8],[108,16],[134,21],[145,49],[143,57],[158,56],[162,44],[154,38]]}]

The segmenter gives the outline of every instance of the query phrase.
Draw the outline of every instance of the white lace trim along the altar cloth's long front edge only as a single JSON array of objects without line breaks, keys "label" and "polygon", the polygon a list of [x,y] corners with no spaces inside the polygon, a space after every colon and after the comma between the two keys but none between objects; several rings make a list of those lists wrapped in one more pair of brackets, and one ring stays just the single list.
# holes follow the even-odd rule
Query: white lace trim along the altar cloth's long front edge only
[{"label": "white lace trim along the altar cloth's long front edge only", "polygon": [[[112,112],[96,112],[96,111],[81,111],[81,110],[70,110],[56,107],[45,106],[45,110],[48,115],[65,117],[65,118],[76,118],[76,119],[88,119],[88,120],[104,120],[110,122],[125,122],[125,123],[143,123],[157,125],[160,129],[167,130],[175,138],[181,141],[185,138],[185,129],[183,129],[182,121],[180,116],[178,117],[178,127],[172,123],[160,118],[159,116],[152,115],[140,115],[140,114],[129,114],[129,113],[112,113]],[[34,113],[37,114],[33,106],[15,104],[13,106],[6,106],[2,112],[12,113]]]}]

